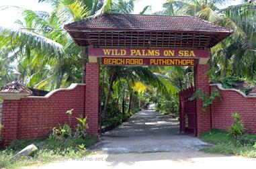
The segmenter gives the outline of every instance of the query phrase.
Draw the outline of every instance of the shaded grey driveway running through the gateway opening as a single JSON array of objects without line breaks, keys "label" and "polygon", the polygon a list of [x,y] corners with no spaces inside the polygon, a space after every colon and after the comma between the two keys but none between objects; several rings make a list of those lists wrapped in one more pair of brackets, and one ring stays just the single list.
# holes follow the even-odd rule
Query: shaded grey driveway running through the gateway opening
[{"label": "shaded grey driveway running through the gateway opening", "polygon": [[116,129],[103,133],[93,150],[108,153],[193,152],[205,142],[179,134],[179,121],[155,111],[139,111]]}]

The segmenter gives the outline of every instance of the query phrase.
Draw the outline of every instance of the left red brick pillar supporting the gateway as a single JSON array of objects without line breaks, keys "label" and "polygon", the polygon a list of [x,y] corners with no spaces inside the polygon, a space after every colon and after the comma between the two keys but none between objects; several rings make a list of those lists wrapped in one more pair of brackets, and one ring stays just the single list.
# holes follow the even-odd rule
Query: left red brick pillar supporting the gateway
[{"label": "left red brick pillar supporting the gateway", "polygon": [[99,64],[86,64],[85,116],[89,129],[87,133],[97,135],[99,128]]}]

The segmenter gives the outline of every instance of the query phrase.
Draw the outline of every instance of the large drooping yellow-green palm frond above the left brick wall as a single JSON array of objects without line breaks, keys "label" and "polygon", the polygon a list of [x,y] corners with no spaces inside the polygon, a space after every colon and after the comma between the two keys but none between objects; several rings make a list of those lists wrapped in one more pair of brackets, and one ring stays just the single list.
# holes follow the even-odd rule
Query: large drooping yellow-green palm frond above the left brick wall
[{"label": "large drooping yellow-green palm frond above the left brick wall", "polygon": [[[0,27],[0,34],[0,48],[5,51],[1,57],[6,58],[5,60],[8,60],[9,64],[18,60],[19,71],[24,72],[23,76],[26,76],[30,70],[30,76],[32,76],[40,71],[38,67],[44,68],[42,65],[35,64],[36,60],[41,60],[44,57],[44,60],[48,60],[47,56],[62,54],[61,44],[35,32]],[[41,63],[44,64],[44,62]],[[28,84],[31,83],[28,82]]]}]

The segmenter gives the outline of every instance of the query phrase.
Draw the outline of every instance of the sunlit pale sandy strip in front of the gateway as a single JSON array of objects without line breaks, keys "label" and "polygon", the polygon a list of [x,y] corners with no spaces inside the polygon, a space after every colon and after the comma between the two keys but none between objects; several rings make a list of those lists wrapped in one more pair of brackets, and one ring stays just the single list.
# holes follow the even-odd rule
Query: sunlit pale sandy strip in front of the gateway
[{"label": "sunlit pale sandy strip in front of the gateway", "polygon": [[256,159],[203,152],[154,152],[145,154],[94,154],[82,160],[55,162],[30,168],[255,168]]}]

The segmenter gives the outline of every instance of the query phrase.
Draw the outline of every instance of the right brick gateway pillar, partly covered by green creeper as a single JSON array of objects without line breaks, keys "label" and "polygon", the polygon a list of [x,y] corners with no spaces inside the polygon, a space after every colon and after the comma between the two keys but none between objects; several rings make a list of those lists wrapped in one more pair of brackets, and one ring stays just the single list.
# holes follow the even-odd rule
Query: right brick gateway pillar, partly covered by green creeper
[{"label": "right brick gateway pillar, partly covered by green creeper", "polygon": [[[195,88],[202,89],[205,94],[210,94],[209,77],[206,73],[209,70],[208,64],[198,64],[195,66]],[[210,107],[203,111],[202,100],[196,99],[197,112],[197,135],[210,130]]]}]

